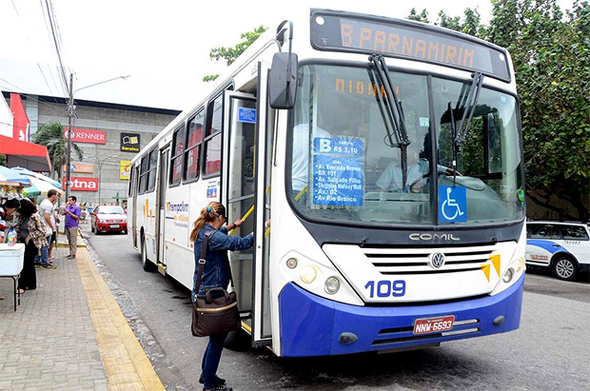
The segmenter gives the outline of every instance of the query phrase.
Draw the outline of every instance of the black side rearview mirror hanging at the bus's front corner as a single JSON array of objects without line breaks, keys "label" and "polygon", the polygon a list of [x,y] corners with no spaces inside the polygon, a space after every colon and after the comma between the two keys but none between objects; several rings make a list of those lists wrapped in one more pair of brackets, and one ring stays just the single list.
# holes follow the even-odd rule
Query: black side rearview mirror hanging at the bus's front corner
[{"label": "black side rearview mirror hanging at the bus's front corner", "polygon": [[275,53],[268,77],[268,101],[273,109],[293,109],[297,94],[297,54]]}]

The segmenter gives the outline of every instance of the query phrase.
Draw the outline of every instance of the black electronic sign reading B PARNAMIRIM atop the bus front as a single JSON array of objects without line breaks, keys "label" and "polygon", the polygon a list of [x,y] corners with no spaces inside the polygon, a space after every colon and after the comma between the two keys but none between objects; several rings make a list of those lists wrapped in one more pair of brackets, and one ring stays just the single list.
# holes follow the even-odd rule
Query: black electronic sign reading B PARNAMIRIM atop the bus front
[{"label": "black electronic sign reading B PARNAMIRIM atop the bus front", "polygon": [[399,19],[369,18],[333,12],[312,13],[312,45],[318,50],[378,53],[480,71],[510,81],[506,52],[441,28],[418,27]]}]

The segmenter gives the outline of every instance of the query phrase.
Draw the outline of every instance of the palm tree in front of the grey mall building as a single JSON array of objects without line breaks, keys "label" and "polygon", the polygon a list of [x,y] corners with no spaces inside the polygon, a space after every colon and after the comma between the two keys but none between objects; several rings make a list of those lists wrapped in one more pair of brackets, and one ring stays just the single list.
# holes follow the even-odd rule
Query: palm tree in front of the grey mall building
[{"label": "palm tree in front of the grey mall building", "polygon": [[[53,169],[52,174],[57,174],[58,180],[61,181],[61,170],[67,159],[67,139],[64,137],[64,126],[59,122],[45,123],[37,130],[37,133],[32,135],[32,140],[35,144],[47,148]],[[84,152],[74,142],[72,143],[72,151],[78,160],[84,157]]]}]

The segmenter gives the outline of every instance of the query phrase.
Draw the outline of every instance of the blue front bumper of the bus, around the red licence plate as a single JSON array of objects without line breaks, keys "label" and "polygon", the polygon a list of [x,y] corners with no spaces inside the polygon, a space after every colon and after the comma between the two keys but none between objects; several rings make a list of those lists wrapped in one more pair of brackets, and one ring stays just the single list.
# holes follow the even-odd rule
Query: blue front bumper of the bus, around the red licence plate
[{"label": "blue front bumper of the bus, around the red licence plate", "polygon": [[[310,294],[292,282],[278,296],[281,356],[327,356],[436,345],[516,330],[525,282],[506,291],[444,304],[359,307]],[[414,335],[414,321],[454,315],[445,333]]]}]

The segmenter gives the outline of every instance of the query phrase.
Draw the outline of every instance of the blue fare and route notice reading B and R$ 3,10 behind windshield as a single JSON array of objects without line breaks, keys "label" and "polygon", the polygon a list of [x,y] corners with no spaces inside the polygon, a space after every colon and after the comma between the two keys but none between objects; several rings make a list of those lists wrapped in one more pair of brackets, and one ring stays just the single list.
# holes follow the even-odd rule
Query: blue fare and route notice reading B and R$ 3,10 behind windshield
[{"label": "blue fare and route notice reading B and R$ 3,10 behind windshield", "polygon": [[361,138],[313,139],[313,197],[316,206],[362,206],[365,187]]}]

